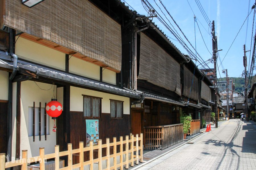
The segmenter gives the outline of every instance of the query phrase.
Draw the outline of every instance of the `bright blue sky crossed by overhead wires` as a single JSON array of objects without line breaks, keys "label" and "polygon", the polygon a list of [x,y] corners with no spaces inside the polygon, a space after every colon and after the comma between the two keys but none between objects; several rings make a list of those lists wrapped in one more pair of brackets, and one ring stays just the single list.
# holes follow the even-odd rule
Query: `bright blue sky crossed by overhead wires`
[{"label": "bright blue sky crossed by overhead wires", "polygon": [[[121,0],[123,1],[123,0]],[[158,13],[162,17],[164,15],[161,13],[160,9],[156,6],[156,3],[160,6],[159,0],[148,0],[150,4],[156,9]],[[156,3],[155,3],[155,2]],[[142,3],[140,0],[125,0],[131,7],[133,7],[139,14],[147,15],[147,11],[143,8]],[[188,3],[189,2],[189,3]],[[127,5],[126,3],[126,5]],[[208,23],[204,19],[203,15],[201,14],[199,7],[196,4],[195,0],[162,0],[162,3],[166,6],[167,10],[170,12],[174,20],[177,22],[181,30],[185,33],[186,37],[189,39],[191,44],[197,47],[197,52],[200,56],[207,61],[212,56],[208,52],[206,46],[208,47],[209,51],[212,53],[212,37],[209,35],[210,28]],[[200,0],[200,3],[205,10],[209,20],[212,22],[215,21],[215,30],[216,35],[218,37],[218,50],[219,57],[218,57],[218,66],[220,70],[220,74],[217,71],[217,77],[225,77],[226,75],[222,73],[222,69],[228,69],[228,76],[230,77],[241,77],[244,67],[243,67],[243,44],[246,45],[246,50],[250,50],[251,46],[251,34],[252,34],[252,21],[253,21],[253,11],[249,15],[249,22],[248,22],[248,29],[247,29],[247,38],[245,43],[245,35],[246,35],[246,27],[247,27],[247,20],[243,25],[240,33],[236,37],[241,25],[243,24],[247,14],[248,14],[248,5],[249,0],[232,0],[232,1],[221,1],[221,0]],[[189,7],[189,4],[197,18],[197,23],[199,25],[199,29],[203,35],[205,40],[206,46],[203,42],[203,39],[200,35],[199,29],[197,25],[194,29],[194,14]],[[249,11],[251,11],[251,7],[253,6],[254,1],[250,1]],[[129,7],[131,9],[131,7]],[[164,8],[162,7],[164,11]],[[165,11],[164,11],[165,12]],[[168,17],[169,20],[171,18],[165,12],[165,15]],[[256,20],[256,18],[255,18]],[[162,25],[157,18],[153,18],[153,22],[158,25],[164,33],[173,39],[175,37],[168,31],[164,25]],[[201,22],[201,23],[200,23]],[[174,24],[174,22],[171,22]],[[177,27],[176,27],[177,29]],[[179,32],[181,35],[181,33]],[[253,34],[254,36],[254,34]],[[196,40],[195,40],[196,37]],[[229,52],[227,53],[230,45],[232,44],[234,38],[233,45],[231,46]],[[184,40],[185,38],[182,37]],[[179,48],[179,50],[184,53],[188,54],[187,51],[179,44],[179,42],[171,39],[171,41]],[[186,44],[189,44],[186,42]],[[192,47],[189,47],[192,49]],[[193,50],[195,52],[195,50]],[[227,55],[226,55],[227,53]],[[247,70],[249,66],[249,55],[250,52],[247,52]],[[226,57],[224,58],[224,56]],[[224,60],[223,60],[224,58]],[[220,62],[223,60],[222,65]],[[197,65],[199,63],[197,62]],[[210,68],[213,68],[213,64],[208,64]],[[201,67],[201,66],[199,66]],[[256,71],[254,71],[256,72]]]}]

